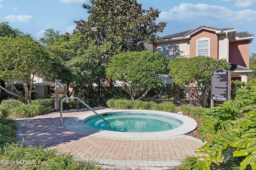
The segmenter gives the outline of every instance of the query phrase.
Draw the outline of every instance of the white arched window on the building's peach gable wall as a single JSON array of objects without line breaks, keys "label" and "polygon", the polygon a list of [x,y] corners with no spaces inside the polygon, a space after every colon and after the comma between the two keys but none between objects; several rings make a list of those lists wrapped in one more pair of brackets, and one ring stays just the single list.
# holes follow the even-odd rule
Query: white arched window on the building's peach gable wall
[{"label": "white arched window on the building's peach gable wall", "polygon": [[196,40],[196,56],[204,55],[210,57],[210,38],[200,38]]}]

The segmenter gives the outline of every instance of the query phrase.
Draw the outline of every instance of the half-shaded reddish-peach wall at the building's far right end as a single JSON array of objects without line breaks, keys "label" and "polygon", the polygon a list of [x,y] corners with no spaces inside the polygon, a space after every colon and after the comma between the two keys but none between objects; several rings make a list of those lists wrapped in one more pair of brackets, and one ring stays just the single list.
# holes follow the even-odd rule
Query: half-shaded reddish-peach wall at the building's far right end
[{"label": "half-shaded reddish-peach wall at the building's far right end", "polygon": [[229,43],[229,63],[249,68],[249,40]]}]

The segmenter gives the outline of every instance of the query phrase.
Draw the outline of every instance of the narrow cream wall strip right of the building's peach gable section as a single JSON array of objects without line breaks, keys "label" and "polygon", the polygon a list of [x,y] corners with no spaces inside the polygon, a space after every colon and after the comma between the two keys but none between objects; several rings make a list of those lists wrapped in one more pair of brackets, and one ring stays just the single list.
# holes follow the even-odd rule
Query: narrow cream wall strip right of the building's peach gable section
[{"label": "narrow cream wall strip right of the building's peach gable section", "polygon": [[228,38],[226,34],[218,35],[218,59],[226,59],[228,61]]}]

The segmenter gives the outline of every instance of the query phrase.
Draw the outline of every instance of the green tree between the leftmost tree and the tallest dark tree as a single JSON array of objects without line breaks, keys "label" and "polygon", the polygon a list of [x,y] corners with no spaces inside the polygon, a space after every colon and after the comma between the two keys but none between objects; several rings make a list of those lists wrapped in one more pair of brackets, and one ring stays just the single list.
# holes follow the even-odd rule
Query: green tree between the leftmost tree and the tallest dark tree
[{"label": "green tree between the leftmost tree and the tallest dark tree", "polygon": [[[102,57],[105,56],[104,46],[98,48],[87,43],[86,37],[80,32],[62,35],[59,33],[48,29],[45,37],[40,39],[51,56],[48,72],[40,77],[51,82],[59,79],[68,89],[70,83],[82,86],[98,82],[104,76],[106,66],[107,59]],[[72,92],[68,91],[67,95],[69,97]]]}]

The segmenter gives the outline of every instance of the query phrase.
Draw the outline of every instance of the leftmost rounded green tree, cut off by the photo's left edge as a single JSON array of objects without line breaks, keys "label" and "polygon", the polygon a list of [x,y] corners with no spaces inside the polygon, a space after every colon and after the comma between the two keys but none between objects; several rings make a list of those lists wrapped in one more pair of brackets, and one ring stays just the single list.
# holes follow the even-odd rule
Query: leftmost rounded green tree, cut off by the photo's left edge
[{"label": "leftmost rounded green tree, cut off by the photo's left edge", "polygon": [[[30,36],[0,37],[0,79],[12,86],[13,92],[24,103],[31,102],[34,75],[47,70],[48,54],[44,47]],[[32,75],[32,77],[31,77]],[[20,80],[25,94],[14,86]]]}]

